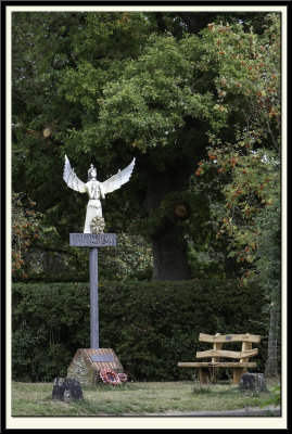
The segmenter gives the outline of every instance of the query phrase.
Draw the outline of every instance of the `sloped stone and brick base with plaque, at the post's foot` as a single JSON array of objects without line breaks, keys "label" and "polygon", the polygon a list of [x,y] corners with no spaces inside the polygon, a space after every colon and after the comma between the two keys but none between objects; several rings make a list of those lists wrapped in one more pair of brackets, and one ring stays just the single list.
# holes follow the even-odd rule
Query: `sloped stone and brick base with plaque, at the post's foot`
[{"label": "sloped stone and brick base with plaque, at the post's foot", "polygon": [[112,348],[79,348],[69,367],[67,376],[77,379],[81,384],[94,386],[100,380],[100,371],[111,369],[124,372],[116,354]]}]

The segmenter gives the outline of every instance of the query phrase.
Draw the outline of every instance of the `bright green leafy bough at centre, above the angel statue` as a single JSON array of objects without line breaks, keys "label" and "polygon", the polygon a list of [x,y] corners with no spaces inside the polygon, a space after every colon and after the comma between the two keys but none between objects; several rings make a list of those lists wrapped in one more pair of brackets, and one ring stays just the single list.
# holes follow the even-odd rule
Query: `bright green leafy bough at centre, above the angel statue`
[{"label": "bright green leafy bough at centre, above the angel statue", "polygon": [[188,116],[224,126],[212,92],[200,82],[192,91],[200,54],[195,36],[150,35],[140,56],[104,88],[92,140],[96,135],[107,146],[122,141],[144,153],[157,145],[176,148]]}]

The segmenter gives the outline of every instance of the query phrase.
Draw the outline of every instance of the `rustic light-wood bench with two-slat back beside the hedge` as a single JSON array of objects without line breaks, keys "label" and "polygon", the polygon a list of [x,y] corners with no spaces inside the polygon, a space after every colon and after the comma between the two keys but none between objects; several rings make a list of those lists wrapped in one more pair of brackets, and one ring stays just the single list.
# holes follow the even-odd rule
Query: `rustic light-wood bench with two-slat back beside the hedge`
[{"label": "rustic light-wood bench with two-slat back beside the hedge", "polygon": [[[179,361],[179,368],[199,368],[199,379],[202,383],[215,382],[218,368],[232,368],[233,384],[239,385],[241,375],[247,372],[246,368],[255,368],[250,357],[258,354],[258,348],[252,348],[253,343],[261,342],[261,336],[253,334],[211,334],[200,333],[199,341],[213,343],[213,349],[196,352],[196,358],[211,358],[211,361]],[[242,342],[241,352],[221,349],[229,342]],[[239,361],[221,361],[221,358],[233,358]]]}]

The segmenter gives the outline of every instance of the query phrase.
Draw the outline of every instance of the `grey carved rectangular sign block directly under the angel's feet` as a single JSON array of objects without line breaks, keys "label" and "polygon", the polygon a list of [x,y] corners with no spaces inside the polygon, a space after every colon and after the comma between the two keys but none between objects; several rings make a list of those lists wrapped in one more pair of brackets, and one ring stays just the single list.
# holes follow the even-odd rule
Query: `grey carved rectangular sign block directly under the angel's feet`
[{"label": "grey carved rectangular sign block directly under the angel's feet", "polygon": [[71,233],[69,245],[76,247],[114,247],[115,233]]}]

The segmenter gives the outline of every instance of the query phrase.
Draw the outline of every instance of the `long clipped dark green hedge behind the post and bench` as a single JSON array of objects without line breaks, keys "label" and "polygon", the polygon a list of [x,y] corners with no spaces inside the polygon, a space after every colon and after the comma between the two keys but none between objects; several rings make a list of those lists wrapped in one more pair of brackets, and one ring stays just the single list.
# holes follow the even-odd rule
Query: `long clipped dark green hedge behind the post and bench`
[{"label": "long clipped dark green hedge behind the post and bench", "polygon": [[[77,348],[90,347],[89,284],[14,283],[12,296],[13,379],[66,376]],[[200,332],[261,334],[255,360],[263,372],[264,305],[258,288],[240,289],[230,280],[106,282],[99,289],[100,347],[115,350],[131,380],[175,381],[193,373],[178,361],[210,348],[198,341]]]}]

